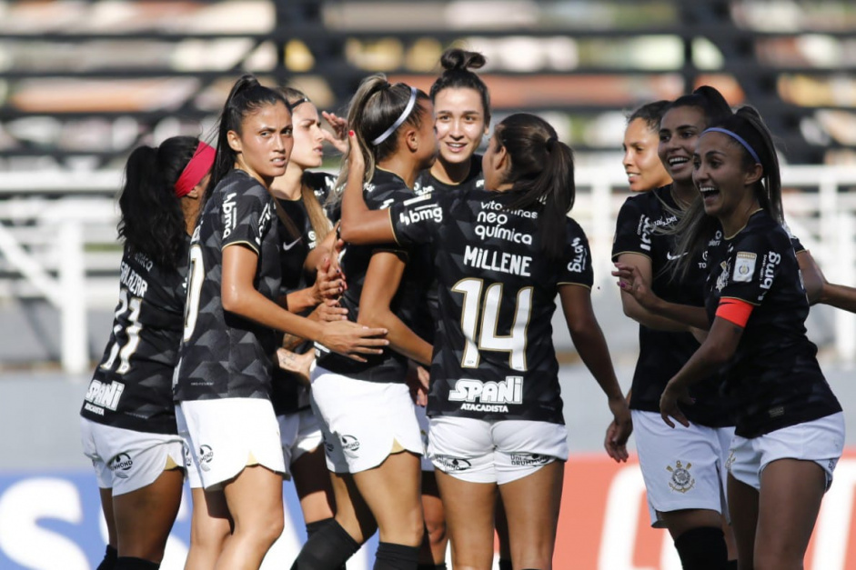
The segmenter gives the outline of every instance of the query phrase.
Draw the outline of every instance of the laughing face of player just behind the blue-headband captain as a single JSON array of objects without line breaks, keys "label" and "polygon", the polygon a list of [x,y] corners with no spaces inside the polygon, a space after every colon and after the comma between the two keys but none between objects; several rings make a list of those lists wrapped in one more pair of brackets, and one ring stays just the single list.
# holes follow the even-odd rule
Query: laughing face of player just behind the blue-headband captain
[{"label": "laughing face of player just behind the blue-headband captain", "polygon": [[692,183],[692,154],[706,126],[704,112],[693,106],[670,109],[660,121],[660,162],[680,185]]}]

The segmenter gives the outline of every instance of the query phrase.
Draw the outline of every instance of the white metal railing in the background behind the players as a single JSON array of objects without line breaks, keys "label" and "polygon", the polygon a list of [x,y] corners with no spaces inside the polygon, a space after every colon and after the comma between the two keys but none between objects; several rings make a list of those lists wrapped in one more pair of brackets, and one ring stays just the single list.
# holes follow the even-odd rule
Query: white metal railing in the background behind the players
[{"label": "white metal railing in the background behind the players", "polygon": [[[116,304],[118,171],[0,176],[0,301],[45,299],[60,315],[60,360],[71,374],[89,366],[89,308]],[[611,286],[615,218],[629,195],[612,165],[579,168],[572,215],[589,235],[598,285]],[[831,282],[856,284],[856,167],[788,166],[782,171],[791,230]],[[594,295],[600,295],[596,287]],[[856,357],[856,315],[836,311],[839,358]]]}]

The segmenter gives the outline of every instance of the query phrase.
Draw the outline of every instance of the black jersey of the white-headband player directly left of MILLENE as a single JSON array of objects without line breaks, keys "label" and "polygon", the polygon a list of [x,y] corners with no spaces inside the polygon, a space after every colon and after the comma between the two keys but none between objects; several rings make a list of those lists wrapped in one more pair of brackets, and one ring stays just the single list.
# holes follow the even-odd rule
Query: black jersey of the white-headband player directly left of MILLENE
[{"label": "black jersey of the white-headband player directly left of MILLENE", "polygon": [[[397,174],[375,168],[375,175],[364,186],[363,196],[366,205],[372,210],[388,208],[413,198],[404,180]],[[347,275],[347,290],[339,300],[339,305],[347,309],[347,318],[357,322],[359,317],[359,297],[366,281],[366,273],[371,256],[377,252],[389,252],[398,255],[407,265],[398,291],[389,304],[389,309],[402,323],[413,330],[424,322],[426,295],[433,280],[428,248],[403,248],[398,245],[347,245],[340,258],[342,272]],[[382,355],[367,355],[366,363],[358,363],[350,358],[336,355],[320,347],[321,356],[318,365],[330,372],[347,375],[369,382],[404,382],[408,369],[407,358],[391,348],[385,348]]]}]

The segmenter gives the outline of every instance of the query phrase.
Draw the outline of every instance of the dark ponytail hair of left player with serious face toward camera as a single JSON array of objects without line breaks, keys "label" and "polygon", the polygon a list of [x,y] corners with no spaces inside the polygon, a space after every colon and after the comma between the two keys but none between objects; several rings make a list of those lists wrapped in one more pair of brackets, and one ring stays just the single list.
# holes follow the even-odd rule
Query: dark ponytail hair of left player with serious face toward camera
[{"label": "dark ponytail hair of left player with serious face toward camera", "polygon": [[[229,146],[228,132],[235,131],[240,135],[241,126],[247,115],[260,107],[277,103],[288,106],[278,91],[260,85],[254,75],[243,75],[235,85],[232,85],[217,123],[217,156],[214,159],[214,167],[211,169],[211,182],[208,184],[208,189],[217,186],[235,166],[236,154]],[[211,193],[208,192],[207,195]]]}]

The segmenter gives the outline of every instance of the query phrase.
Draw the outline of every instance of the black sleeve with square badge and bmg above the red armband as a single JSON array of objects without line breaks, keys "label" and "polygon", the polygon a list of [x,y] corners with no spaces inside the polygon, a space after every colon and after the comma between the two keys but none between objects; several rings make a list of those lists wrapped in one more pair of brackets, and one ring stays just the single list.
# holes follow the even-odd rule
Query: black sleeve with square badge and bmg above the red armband
[{"label": "black sleeve with square badge and bmg above the red armband", "polygon": [[728,283],[720,298],[760,305],[778,278],[782,255],[790,247],[790,241],[772,235],[750,235],[734,244],[727,262]]}]

